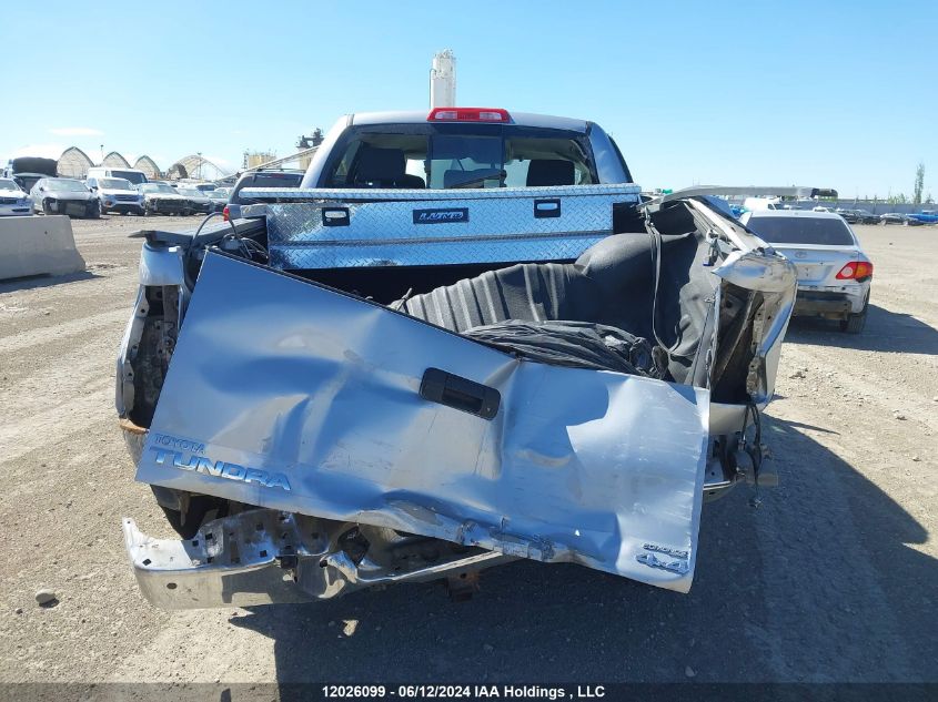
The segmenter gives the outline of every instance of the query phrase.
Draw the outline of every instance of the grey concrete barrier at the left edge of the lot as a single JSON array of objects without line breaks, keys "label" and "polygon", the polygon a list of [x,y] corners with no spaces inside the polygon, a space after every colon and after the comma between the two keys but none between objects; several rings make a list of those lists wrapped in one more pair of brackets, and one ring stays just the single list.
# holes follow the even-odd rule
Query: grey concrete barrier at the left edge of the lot
[{"label": "grey concrete barrier at the left edge of the lot", "polygon": [[0,217],[0,281],[84,271],[64,215]]}]

